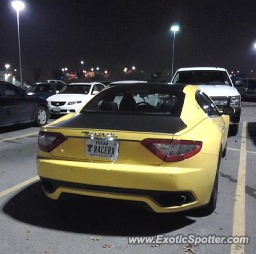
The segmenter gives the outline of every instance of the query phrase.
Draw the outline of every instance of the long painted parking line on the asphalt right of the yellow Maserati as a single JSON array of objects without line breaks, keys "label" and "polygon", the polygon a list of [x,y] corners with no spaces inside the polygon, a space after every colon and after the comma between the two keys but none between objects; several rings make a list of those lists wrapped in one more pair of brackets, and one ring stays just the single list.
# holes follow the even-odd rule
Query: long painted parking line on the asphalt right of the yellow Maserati
[{"label": "long painted parking line on the asphalt right of the yellow Maserati", "polygon": [[[232,235],[245,235],[245,174],[246,174],[246,130],[247,123],[243,122],[240,161],[237,174],[237,184],[234,204],[233,232]],[[231,254],[244,253],[244,244],[232,244]]]}]

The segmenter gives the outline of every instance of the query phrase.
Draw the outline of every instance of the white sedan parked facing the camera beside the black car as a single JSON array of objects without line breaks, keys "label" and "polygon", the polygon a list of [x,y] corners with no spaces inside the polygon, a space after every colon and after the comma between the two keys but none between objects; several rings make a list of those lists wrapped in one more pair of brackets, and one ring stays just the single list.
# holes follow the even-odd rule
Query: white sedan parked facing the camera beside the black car
[{"label": "white sedan parked facing the camera beside the black car", "polygon": [[70,83],[58,94],[47,98],[49,111],[51,114],[75,113],[104,87],[97,82]]}]

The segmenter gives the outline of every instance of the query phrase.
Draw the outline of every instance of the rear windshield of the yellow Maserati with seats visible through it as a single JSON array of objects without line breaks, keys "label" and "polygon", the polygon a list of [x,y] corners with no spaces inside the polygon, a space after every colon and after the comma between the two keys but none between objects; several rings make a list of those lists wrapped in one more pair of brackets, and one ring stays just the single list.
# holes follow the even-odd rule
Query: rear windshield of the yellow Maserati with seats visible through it
[{"label": "rear windshield of the yellow Maserati with seats visible through it", "polygon": [[[139,86],[137,86],[139,87]],[[151,114],[179,117],[184,94],[171,89],[136,88],[122,85],[103,90],[87,103],[83,112],[106,112],[113,114]]]}]

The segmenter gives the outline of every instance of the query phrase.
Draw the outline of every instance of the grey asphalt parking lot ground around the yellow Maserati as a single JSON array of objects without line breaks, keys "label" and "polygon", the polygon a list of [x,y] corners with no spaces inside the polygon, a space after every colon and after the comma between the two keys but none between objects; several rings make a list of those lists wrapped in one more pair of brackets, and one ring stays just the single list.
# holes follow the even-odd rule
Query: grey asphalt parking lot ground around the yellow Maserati
[{"label": "grey asphalt parking lot ground around the yellow Maserati", "polygon": [[[256,103],[242,103],[239,133],[228,138],[220,166],[217,208],[206,217],[196,212],[156,214],[131,202],[86,196],[48,199],[37,177],[38,131],[30,124],[0,128],[1,254],[256,253]],[[127,242],[129,236],[191,233],[248,235],[250,244]]]}]

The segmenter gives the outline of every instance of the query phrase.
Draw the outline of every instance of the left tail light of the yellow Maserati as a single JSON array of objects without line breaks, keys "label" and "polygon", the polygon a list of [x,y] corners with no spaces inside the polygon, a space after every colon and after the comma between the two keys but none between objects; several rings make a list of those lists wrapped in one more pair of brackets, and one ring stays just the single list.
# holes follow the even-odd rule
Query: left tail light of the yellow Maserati
[{"label": "left tail light of the yellow Maserati", "polygon": [[65,140],[66,138],[61,133],[40,131],[38,136],[38,148],[42,151],[50,152]]}]

